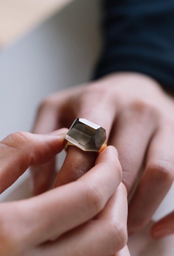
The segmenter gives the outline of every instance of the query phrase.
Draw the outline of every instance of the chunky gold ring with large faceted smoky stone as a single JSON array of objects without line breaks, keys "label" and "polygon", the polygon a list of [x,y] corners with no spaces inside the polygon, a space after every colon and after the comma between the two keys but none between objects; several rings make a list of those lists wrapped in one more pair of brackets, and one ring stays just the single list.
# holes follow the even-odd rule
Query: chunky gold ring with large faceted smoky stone
[{"label": "chunky gold ring with large faceted smoky stone", "polygon": [[64,144],[66,151],[68,146],[72,145],[83,151],[100,154],[107,146],[106,130],[87,119],[77,118],[65,135]]}]

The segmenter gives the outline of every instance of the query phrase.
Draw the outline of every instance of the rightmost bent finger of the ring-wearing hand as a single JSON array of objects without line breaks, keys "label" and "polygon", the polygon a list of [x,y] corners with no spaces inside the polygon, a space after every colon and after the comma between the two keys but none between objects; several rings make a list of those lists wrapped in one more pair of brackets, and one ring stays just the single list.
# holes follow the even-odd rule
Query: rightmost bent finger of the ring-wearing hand
[{"label": "rightmost bent finger of the ring-wearing hand", "polygon": [[145,172],[129,206],[128,229],[131,233],[139,230],[151,219],[173,182],[173,141],[171,125],[163,125],[152,139]]}]

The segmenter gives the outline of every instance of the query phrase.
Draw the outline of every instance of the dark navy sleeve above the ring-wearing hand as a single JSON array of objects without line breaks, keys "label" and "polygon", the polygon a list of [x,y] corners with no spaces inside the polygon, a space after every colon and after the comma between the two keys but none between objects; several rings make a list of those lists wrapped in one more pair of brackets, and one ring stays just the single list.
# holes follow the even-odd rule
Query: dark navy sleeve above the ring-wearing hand
[{"label": "dark navy sleeve above the ring-wearing hand", "polygon": [[103,5],[104,47],[95,79],[135,71],[174,89],[174,0],[105,0]]}]

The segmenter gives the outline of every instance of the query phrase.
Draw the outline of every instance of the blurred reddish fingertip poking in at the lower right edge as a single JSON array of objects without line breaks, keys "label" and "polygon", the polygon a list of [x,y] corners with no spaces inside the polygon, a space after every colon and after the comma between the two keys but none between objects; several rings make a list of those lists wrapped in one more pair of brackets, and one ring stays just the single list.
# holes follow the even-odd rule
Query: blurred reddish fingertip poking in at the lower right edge
[{"label": "blurred reddish fingertip poking in at the lower right edge", "polygon": [[159,220],[151,229],[152,237],[159,239],[174,233],[174,212]]}]

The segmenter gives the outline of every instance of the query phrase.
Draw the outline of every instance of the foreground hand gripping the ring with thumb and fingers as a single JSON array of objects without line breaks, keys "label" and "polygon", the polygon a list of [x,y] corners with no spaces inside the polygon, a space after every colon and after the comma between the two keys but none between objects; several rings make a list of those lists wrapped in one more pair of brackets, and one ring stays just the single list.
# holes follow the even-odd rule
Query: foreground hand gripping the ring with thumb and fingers
[{"label": "foreground hand gripping the ring with thumb and fingers", "polygon": [[[59,153],[65,132],[18,132],[2,140],[0,193],[30,165],[43,164]],[[76,182],[30,199],[1,203],[1,256],[129,256],[127,191],[121,176],[117,151],[109,146]]]}]

